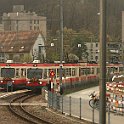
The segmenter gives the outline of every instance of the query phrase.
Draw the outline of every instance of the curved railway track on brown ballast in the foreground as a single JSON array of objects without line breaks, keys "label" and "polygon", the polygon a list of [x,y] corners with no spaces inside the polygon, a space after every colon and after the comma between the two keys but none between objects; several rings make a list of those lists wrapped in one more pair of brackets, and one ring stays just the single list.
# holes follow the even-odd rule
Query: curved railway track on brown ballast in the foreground
[{"label": "curved railway track on brown ballast in the foreground", "polygon": [[[25,107],[23,106],[23,102],[33,96],[35,96],[35,94],[23,93],[21,95],[14,97],[9,104],[10,111],[19,118],[29,122],[30,124],[53,124],[48,120],[44,120],[43,118],[39,118],[31,114],[25,109]],[[17,105],[15,105],[14,103],[16,103]]]}]

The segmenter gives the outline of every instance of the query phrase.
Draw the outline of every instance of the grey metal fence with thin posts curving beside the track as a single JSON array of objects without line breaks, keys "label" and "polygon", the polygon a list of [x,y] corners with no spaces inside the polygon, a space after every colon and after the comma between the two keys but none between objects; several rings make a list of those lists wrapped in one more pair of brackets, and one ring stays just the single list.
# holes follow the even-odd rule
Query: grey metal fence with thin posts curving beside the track
[{"label": "grey metal fence with thin posts curving beside the track", "polygon": [[[89,100],[85,98],[72,98],[71,96],[61,96],[57,93],[47,92],[47,100],[49,107],[60,111],[62,114],[74,116],[92,123],[99,122],[99,110],[89,106]],[[107,124],[114,124],[114,115],[112,109],[113,104],[109,104],[106,112]],[[118,111],[116,111],[118,113]],[[122,112],[123,113],[123,112]],[[116,114],[116,113],[115,113]],[[111,116],[110,116],[111,115]],[[111,118],[110,118],[111,117]],[[115,123],[116,124],[116,123]]]}]

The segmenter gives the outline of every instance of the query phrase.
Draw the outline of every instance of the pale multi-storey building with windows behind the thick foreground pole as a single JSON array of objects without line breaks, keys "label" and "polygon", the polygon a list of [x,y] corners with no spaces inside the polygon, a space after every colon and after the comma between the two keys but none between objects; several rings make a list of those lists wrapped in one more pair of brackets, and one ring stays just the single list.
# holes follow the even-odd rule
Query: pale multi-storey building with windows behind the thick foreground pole
[{"label": "pale multi-storey building with windows behind the thick foreground pole", "polygon": [[[88,61],[99,63],[100,60],[100,43],[87,42]],[[122,62],[122,42],[107,42],[106,44],[106,62],[120,63]]]}]

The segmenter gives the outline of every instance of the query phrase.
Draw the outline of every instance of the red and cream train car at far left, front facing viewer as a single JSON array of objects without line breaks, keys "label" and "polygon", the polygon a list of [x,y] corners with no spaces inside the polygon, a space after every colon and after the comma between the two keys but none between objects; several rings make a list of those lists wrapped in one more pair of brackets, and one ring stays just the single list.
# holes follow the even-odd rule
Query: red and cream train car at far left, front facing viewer
[{"label": "red and cream train car at far left, front facing viewer", "polygon": [[20,89],[26,86],[26,67],[19,63],[0,63],[0,87]]}]

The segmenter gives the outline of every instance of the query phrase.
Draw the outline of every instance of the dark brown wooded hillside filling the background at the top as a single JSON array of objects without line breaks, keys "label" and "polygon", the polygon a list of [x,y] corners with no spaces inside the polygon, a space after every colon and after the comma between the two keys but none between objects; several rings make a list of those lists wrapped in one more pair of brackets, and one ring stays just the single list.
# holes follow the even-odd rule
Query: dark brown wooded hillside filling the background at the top
[{"label": "dark brown wooded hillside filling the background at the top", "polygon": [[[99,0],[63,0],[64,26],[76,31],[85,29],[98,35]],[[59,0],[0,0],[0,15],[10,12],[16,4],[25,5],[26,11],[35,11],[47,17],[48,29],[55,34],[59,29]],[[121,13],[124,0],[107,1],[107,33],[121,39]]]}]

